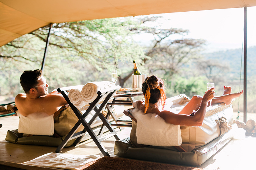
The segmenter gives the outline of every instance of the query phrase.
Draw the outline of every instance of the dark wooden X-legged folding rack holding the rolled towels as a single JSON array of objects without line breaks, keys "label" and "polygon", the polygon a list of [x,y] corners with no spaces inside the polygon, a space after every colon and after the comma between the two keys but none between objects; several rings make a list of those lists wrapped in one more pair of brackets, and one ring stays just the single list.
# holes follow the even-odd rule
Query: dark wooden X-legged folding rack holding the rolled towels
[{"label": "dark wooden X-legged folding rack holding the rolled towels", "polygon": [[[62,143],[58,146],[58,148],[55,150],[55,152],[59,153],[63,149],[63,147],[67,144],[68,141],[70,141],[72,139],[75,139],[75,138],[77,138],[77,139],[76,139],[76,141],[74,142],[73,145],[76,146],[81,141],[82,137],[85,135],[85,133],[87,131],[88,134],[90,135],[90,137],[92,138],[92,140],[94,141],[94,143],[97,145],[97,147],[102,152],[102,154],[104,156],[110,156],[108,154],[106,148],[102,145],[101,141],[104,141],[104,140],[106,140],[106,139],[108,139],[112,136],[114,136],[116,140],[119,140],[119,138],[117,137],[116,131],[113,129],[113,127],[110,125],[110,123],[106,120],[106,118],[103,116],[103,114],[101,112],[104,109],[104,107],[107,105],[108,101],[113,97],[113,95],[115,94],[115,92],[116,92],[116,90],[119,86],[115,86],[115,87],[112,87],[112,88],[107,88],[107,89],[98,91],[97,92],[97,94],[98,94],[97,98],[92,103],[89,103],[90,106],[84,114],[82,114],[71,103],[71,101],[69,100],[69,97],[68,97],[68,91],[72,88],[78,88],[78,87],[81,87],[81,85],[79,85],[79,86],[69,86],[69,87],[63,87],[63,88],[58,88],[57,89],[57,91],[63,95],[63,97],[65,98],[65,100],[67,101],[67,103],[69,104],[71,109],[75,112],[75,114],[76,114],[76,116],[79,120],[75,124],[75,126],[71,129],[71,131],[68,133],[68,135],[65,137],[65,139],[62,141]],[[103,99],[104,97],[106,97],[106,98],[104,99],[104,101],[102,102],[100,107],[98,108],[96,105],[98,105],[100,100]],[[91,120],[87,123],[85,118],[90,114],[90,112],[92,110],[95,111],[95,114],[91,118]],[[107,134],[105,136],[102,136],[100,138],[98,138],[97,135],[95,135],[94,131],[90,127],[90,125],[94,122],[94,120],[97,117],[99,117],[102,120],[103,124],[110,131],[109,134]],[[77,131],[77,129],[80,127],[80,125],[84,126],[84,129],[80,132],[75,133]]]}]

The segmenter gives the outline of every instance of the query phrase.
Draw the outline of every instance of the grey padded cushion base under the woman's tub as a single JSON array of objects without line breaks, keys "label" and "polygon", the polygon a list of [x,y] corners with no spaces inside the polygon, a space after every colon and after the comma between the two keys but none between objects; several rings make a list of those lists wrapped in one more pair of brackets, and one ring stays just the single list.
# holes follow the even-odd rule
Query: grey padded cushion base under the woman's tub
[{"label": "grey padded cushion base under the woman's tub", "polygon": [[210,143],[191,152],[178,152],[174,147],[133,147],[130,138],[115,141],[114,154],[125,158],[146,161],[173,163],[200,166],[215,154],[222,146],[226,145],[233,137],[233,130],[217,137]]}]

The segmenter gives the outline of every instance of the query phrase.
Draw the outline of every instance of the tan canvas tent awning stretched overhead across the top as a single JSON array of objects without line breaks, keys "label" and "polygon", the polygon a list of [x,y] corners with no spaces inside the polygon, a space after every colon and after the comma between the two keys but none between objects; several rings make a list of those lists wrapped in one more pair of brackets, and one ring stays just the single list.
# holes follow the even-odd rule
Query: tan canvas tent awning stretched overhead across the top
[{"label": "tan canvas tent awning stretched overhead across the top", "polygon": [[50,23],[256,6],[255,0],[0,0],[0,46]]}]

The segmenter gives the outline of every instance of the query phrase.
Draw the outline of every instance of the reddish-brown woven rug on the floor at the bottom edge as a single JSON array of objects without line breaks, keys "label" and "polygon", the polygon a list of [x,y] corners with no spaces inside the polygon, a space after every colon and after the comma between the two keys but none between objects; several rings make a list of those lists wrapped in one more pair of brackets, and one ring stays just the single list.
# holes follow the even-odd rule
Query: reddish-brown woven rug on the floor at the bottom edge
[{"label": "reddish-brown woven rug on the floor at the bottom edge", "polygon": [[183,167],[164,163],[130,160],[125,158],[102,157],[87,163],[79,170],[203,170],[197,167]]}]

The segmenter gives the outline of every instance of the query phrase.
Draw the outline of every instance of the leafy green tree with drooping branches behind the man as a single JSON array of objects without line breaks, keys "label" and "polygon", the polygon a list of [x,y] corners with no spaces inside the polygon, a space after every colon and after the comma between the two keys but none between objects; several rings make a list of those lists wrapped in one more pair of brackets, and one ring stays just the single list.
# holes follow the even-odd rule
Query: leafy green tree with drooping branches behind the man
[{"label": "leafy green tree with drooping branches behind the man", "polygon": [[[110,70],[119,69],[119,65],[129,60],[143,58],[143,49],[133,41],[129,30],[136,24],[129,18],[53,24],[44,70],[49,84],[58,87],[75,80],[81,84],[110,80]],[[2,46],[1,61],[22,64],[16,67],[19,75],[26,69],[41,68],[48,29],[42,27]],[[125,71],[120,68],[119,74]]]}]

